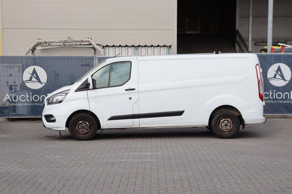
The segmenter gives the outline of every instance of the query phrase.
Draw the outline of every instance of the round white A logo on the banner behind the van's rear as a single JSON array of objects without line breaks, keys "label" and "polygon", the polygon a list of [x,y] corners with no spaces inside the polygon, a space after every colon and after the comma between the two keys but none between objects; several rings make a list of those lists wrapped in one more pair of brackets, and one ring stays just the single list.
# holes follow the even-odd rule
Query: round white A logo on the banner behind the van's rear
[{"label": "round white A logo on the banner behind the van's rear", "polygon": [[276,63],[269,68],[267,77],[272,85],[284,86],[291,79],[291,70],[284,63]]}]

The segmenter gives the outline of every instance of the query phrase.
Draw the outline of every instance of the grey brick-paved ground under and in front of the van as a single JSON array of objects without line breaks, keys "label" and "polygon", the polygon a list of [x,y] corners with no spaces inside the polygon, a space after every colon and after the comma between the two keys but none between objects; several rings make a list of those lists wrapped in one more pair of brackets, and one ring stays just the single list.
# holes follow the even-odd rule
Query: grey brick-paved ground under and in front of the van
[{"label": "grey brick-paved ground under and in front of the van", "polygon": [[104,130],[91,141],[0,119],[0,193],[291,193],[292,119],[235,139],[206,128]]}]

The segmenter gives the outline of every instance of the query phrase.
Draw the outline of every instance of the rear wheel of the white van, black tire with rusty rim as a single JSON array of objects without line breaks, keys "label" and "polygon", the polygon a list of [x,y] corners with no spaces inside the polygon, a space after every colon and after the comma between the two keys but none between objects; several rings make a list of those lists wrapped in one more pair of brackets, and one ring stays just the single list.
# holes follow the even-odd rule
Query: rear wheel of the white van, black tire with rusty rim
[{"label": "rear wheel of the white van, black tire with rusty rim", "polygon": [[222,139],[230,139],[237,135],[240,128],[239,118],[229,111],[217,113],[211,122],[213,133]]}]

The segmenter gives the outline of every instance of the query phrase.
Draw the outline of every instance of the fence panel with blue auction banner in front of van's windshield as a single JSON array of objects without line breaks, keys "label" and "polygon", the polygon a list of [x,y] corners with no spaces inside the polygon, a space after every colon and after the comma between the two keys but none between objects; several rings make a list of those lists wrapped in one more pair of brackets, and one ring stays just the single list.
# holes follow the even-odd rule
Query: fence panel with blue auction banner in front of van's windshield
[{"label": "fence panel with blue auction banner in front of van's windshield", "polygon": [[0,56],[0,117],[41,117],[48,94],[93,66],[94,57]]}]

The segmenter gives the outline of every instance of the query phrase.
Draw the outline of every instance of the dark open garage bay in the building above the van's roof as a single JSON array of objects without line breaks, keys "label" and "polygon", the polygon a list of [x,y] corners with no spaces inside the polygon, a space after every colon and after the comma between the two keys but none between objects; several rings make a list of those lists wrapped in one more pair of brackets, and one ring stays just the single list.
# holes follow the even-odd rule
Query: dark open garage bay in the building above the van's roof
[{"label": "dark open garage bay in the building above the van's roof", "polygon": [[177,53],[235,52],[236,0],[178,0]]}]

